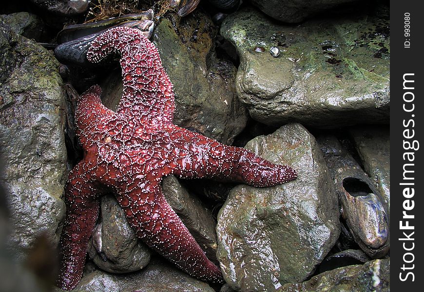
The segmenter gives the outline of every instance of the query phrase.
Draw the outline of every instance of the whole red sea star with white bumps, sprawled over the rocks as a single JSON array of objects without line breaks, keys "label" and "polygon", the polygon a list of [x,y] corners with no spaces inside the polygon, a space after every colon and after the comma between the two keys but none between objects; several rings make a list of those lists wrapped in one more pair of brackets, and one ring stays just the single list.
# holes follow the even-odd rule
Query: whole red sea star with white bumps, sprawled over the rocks
[{"label": "whole red sea star with white bumps, sprawled over the rocks", "polygon": [[272,164],[252,152],[226,146],[173,125],[173,85],[157,49],[136,29],[117,27],[96,38],[90,61],[121,55],[123,96],[116,112],[91,87],[77,103],[77,134],[84,159],[65,186],[66,219],[60,238],[58,286],[79,282],[100,195],[113,191],[136,235],[147,245],[201,280],[223,277],[166,202],[163,176],[216,178],[271,186],[296,178],[289,166]]}]

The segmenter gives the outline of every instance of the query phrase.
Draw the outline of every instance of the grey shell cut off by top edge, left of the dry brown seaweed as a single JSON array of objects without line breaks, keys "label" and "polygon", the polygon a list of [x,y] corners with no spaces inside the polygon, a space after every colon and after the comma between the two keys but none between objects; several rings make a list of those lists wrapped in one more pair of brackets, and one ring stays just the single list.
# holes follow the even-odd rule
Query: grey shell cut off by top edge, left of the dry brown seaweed
[{"label": "grey shell cut off by top edge, left of the dry brown seaweed", "polygon": [[74,16],[87,11],[90,0],[31,0],[40,8],[55,14]]}]

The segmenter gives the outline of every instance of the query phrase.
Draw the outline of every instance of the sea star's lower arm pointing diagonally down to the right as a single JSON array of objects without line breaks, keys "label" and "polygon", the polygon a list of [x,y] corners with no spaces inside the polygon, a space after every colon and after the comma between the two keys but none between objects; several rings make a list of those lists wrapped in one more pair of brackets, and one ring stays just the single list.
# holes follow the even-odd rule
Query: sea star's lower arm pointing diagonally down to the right
[{"label": "sea star's lower arm pointing diagonally down to the right", "polygon": [[148,246],[186,273],[208,282],[222,282],[222,274],[206,256],[162,194],[159,183],[133,180],[118,192],[135,233]]}]

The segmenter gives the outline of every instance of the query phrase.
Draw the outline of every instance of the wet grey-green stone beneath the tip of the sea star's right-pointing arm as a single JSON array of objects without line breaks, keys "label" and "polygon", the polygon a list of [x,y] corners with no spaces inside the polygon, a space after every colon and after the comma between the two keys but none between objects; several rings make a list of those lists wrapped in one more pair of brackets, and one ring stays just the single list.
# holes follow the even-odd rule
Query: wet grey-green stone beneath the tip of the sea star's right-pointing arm
[{"label": "wet grey-green stone beneath the tip of the sea star's right-pointing arm", "polygon": [[298,172],[289,183],[234,187],[218,214],[218,260],[237,291],[274,291],[311,275],[340,233],[339,206],[314,137],[289,124],[246,148]]}]

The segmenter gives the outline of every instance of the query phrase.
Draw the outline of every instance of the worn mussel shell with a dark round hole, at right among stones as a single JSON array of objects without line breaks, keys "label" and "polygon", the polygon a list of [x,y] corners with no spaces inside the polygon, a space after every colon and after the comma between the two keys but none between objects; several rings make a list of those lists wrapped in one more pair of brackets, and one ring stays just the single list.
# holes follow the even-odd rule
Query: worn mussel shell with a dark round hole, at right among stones
[{"label": "worn mussel shell with a dark round hole, at right among stones", "polygon": [[389,223],[380,193],[361,166],[334,136],[317,137],[355,242],[370,257],[390,249]]}]

